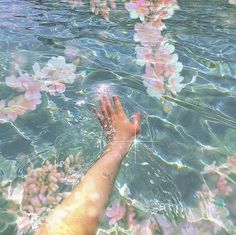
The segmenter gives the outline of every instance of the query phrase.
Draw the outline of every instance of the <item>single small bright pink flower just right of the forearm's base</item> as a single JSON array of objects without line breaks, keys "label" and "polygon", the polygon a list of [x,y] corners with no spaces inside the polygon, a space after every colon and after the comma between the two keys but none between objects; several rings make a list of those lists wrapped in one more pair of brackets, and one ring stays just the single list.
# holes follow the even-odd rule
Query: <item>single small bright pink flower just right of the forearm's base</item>
[{"label": "single small bright pink flower just right of the forearm's base", "polygon": [[114,203],[112,207],[106,211],[106,216],[110,218],[109,225],[116,224],[125,215],[125,207],[122,207],[119,202]]}]

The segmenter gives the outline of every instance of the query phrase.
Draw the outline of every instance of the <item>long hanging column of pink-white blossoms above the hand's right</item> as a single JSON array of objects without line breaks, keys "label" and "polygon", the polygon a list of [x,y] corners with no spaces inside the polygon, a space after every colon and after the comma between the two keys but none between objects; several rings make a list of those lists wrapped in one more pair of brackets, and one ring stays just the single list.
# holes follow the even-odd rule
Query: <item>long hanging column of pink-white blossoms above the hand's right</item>
[{"label": "long hanging column of pink-white blossoms above the hand's right", "polygon": [[143,80],[148,93],[160,98],[168,90],[176,95],[185,86],[180,75],[183,65],[178,62],[175,47],[161,33],[165,28],[163,20],[178,9],[177,1],[133,0],[125,6],[131,18],[142,21],[135,25],[134,40],[140,43],[136,47],[137,63],[146,65]]}]

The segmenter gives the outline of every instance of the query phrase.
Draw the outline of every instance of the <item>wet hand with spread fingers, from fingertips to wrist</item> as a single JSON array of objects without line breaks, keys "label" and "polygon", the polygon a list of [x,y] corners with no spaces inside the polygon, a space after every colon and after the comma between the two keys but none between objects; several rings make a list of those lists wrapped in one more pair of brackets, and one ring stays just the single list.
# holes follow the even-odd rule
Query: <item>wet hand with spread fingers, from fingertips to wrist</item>
[{"label": "wet hand with spread fingers, from fingertips to wrist", "polygon": [[109,141],[132,143],[140,133],[141,113],[135,113],[129,120],[124,112],[120,99],[113,96],[114,108],[110,97],[103,96],[100,98],[101,113],[94,109],[104,133]]}]

